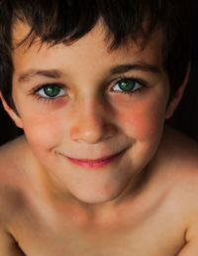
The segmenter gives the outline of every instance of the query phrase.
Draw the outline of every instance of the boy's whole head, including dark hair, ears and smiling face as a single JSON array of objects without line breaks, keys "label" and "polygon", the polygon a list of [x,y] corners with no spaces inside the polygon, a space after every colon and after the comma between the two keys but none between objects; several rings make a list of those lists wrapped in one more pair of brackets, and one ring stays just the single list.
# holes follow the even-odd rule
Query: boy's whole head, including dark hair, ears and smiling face
[{"label": "boy's whole head, including dark hair, ears and smiling face", "polygon": [[109,200],[148,165],[186,83],[187,2],[1,0],[3,103],[58,186]]}]

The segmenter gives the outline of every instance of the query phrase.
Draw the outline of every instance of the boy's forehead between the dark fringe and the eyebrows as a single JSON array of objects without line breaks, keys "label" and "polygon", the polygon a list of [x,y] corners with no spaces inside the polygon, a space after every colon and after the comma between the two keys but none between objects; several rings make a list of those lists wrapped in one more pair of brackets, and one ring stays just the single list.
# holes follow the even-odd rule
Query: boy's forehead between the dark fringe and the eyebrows
[{"label": "boy's forehead between the dark fringe and the eyebrows", "polygon": [[41,44],[38,38],[30,48],[29,40],[17,47],[30,31],[31,28],[23,23],[17,23],[13,27],[12,58],[13,64],[17,68],[22,68],[24,65],[28,68],[31,64],[48,65],[44,68],[52,68],[50,65],[55,62],[60,65],[67,63],[70,66],[76,65],[76,63],[99,66],[100,64],[120,64],[131,61],[162,64],[162,33],[159,30],[151,35],[144,49],[139,44],[141,40],[138,43],[129,40],[120,48],[110,50],[110,41],[107,41],[106,37],[107,30],[101,22],[98,22],[87,35],[70,45],[58,44],[50,47],[47,43]]}]

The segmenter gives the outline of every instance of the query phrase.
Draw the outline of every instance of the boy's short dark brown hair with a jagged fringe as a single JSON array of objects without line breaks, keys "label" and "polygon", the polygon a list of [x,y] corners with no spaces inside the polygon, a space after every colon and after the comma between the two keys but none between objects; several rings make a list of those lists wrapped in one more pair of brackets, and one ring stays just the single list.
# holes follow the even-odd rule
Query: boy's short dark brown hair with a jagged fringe
[{"label": "boy's short dark brown hair with a jagged fringe", "polygon": [[[113,51],[129,39],[148,41],[162,30],[163,66],[173,95],[185,77],[190,60],[189,0],[0,0],[0,90],[15,109],[12,98],[12,28],[16,21],[31,27],[21,42],[35,38],[42,43],[72,44],[102,18]],[[145,22],[146,21],[146,22]],[[147,24],[147,26],[145,26]],[[30,40],[31,39],[31,40]],[[109,38],[110,39],[110,38]]]}]

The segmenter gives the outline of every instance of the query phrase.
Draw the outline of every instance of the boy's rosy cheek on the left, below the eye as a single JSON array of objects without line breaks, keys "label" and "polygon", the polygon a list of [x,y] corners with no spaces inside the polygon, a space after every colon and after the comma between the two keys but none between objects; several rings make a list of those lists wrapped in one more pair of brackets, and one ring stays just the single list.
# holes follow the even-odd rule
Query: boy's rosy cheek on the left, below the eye
[{"label": "boy's rosy cheek on the left, below the eye", "polygon": [[30,100],[21,91],[15,90],[13,90],[13,96],[22,119],[24,132],[32,148],[38,151],[51,149],[60,140],[64,128],[57,114],[57,110],[62,107],[62,101],[55,105],[38,103]]}]

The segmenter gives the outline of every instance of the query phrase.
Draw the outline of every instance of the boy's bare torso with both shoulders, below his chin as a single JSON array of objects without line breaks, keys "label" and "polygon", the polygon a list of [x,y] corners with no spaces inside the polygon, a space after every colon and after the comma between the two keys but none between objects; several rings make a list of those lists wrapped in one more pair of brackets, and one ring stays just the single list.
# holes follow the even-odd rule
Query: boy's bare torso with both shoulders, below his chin
[{"label": "boy's bare torso with both shoulders, below his chin", "polygon": [[0,256],[198,255],[197,146],[168,131],[161,148],[139,192],[93,213],[44,189],[23,136],[3,146]]}]

